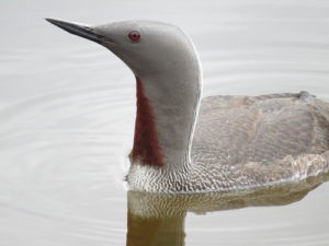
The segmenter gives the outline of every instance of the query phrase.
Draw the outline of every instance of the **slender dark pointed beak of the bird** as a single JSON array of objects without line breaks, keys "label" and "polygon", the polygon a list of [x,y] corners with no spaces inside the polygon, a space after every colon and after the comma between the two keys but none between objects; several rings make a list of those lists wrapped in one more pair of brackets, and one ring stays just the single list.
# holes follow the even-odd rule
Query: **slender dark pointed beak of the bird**
[{"label": "slender dark pointed beak of the bird", "polygon": [[84,37],[89,40],[99,43],[99,44],[104,44],[104,43],[113,43],[111,37],[104,37],[98,33],[95,33],[95,30],[92,26],[88,25],[82,25],[78,23],[70,23],[70,22],[65,22],[65,21],[59,21],[59,20],[54,20],[54,19],[46,19],[46,21],[50,22],[52,24],[71,33],[80,37]]}]

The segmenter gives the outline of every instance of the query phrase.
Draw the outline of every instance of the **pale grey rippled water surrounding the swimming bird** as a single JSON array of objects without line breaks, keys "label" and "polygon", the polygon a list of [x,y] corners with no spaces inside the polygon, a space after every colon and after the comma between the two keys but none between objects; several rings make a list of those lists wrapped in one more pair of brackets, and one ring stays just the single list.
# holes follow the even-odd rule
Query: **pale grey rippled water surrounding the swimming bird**
[{"label": "pale grey rippled water surrounding the swimming bird", "polygon": [[[123,183],[133,74],[105,49],[43,20],[174,23],[200,52],[204,96],[305,90],[329,101],[328,11],[321,0],[2,1],[0,245],[147,245],[148,238],[157,245],[328,245],[328,183],[305,198],[307,188],[279,200],[189,197],[147,210],[154,198],[127,194]],[[172,202],[156,201],[167,199]],[[218,202],[223,207],[212,207]]]}]

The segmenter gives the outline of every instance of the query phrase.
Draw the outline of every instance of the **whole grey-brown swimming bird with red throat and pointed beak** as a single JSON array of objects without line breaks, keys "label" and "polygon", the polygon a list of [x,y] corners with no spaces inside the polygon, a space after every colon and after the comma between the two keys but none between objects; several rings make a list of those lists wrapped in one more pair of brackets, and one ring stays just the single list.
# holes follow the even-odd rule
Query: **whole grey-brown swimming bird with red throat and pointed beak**
[{"label": "whole grey-brown swimming bird with red throat and pointed beak", "polygon": [[180,27],[46,20],[110,49],[136,78],[131,189],[240,192],[329,172],[329,103],[305,91],[202,98],[200,58]]}]

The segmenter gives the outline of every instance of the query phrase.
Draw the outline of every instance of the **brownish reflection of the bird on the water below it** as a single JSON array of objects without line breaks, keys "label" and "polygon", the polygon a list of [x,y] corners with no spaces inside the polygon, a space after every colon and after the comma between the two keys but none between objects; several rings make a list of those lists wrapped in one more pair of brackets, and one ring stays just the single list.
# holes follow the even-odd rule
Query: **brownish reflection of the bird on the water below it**
[{"label": "brownish reflection of the bird on the water below it", "polygon": [[299,201],[329,175],[309,177],[298,184],[280,185],[257,191],[168,195],[128,191],[127,246],[182,246],[188,212],[283,206]]}]

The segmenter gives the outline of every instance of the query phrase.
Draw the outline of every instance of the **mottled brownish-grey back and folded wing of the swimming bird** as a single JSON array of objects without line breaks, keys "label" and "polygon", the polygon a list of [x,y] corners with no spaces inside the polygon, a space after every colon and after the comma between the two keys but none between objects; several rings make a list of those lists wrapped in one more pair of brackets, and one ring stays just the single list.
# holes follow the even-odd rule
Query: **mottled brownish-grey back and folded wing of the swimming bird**
[{"label": "mottled brownish-grey back and folded wing of the swimming bird", "polygon": [[211,96],[202,101],[192,144],[198,163],[270,164],[329,150],[329,105],[307,92]]}]

